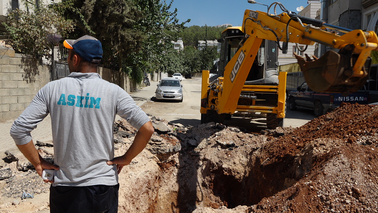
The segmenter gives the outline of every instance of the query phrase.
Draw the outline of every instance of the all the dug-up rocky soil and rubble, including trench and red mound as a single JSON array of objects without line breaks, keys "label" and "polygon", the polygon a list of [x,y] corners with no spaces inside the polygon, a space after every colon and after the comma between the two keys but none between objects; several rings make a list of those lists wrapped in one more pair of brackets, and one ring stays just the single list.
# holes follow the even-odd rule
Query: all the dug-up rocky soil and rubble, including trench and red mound
[{"label": "all the dug-up rocky soil and rubble, including trench and red mound", "polygon": [[[150,118],[155,133],[119,174],[120,213],[378,213],[374,105],[343,104],[302,127],[259,134]],[[136,129],[122,119],[114,131],[115,155],[123,155]],[[41,147],[48,144],[39,145],[50,159],[49,147]],[[2,168],[4,177],[12,172],[0,181],[3,197],[48,190],[49,184],[33,179],[33,169],[7,156],[14,162]]]}]

